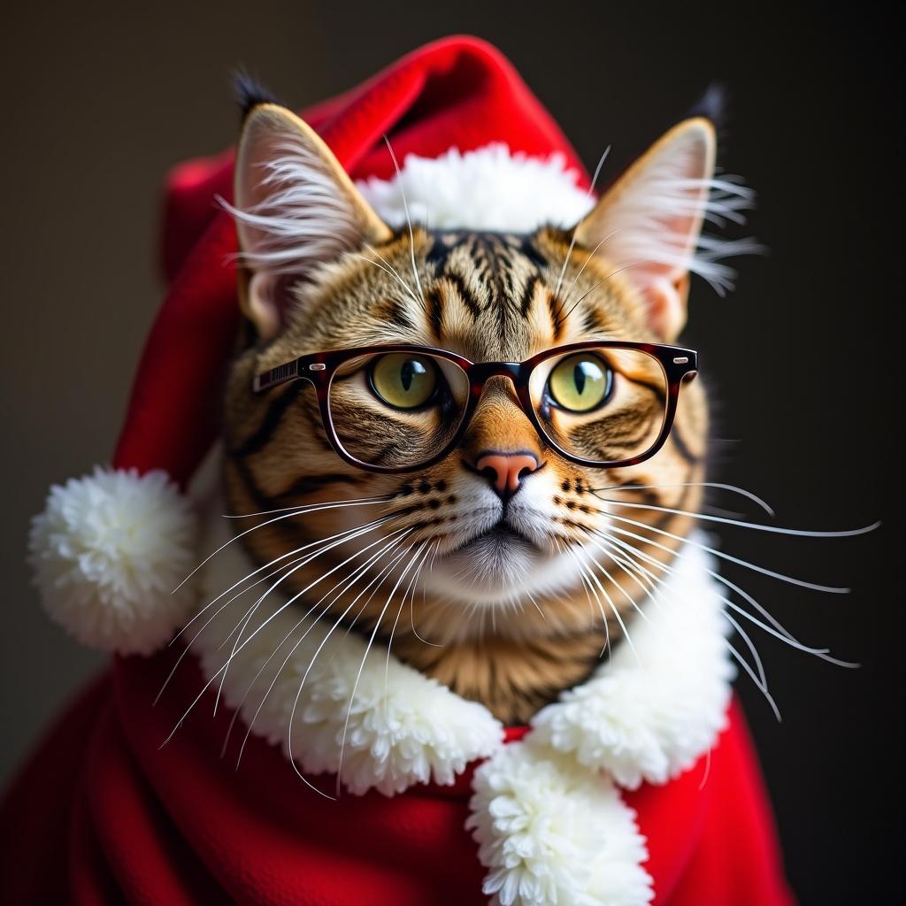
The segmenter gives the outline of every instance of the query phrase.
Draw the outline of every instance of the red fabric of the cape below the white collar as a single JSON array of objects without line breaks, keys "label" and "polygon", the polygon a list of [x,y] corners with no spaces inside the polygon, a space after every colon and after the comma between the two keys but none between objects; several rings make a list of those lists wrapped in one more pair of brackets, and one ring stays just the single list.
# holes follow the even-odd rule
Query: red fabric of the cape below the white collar
[{"label": "red fabric of the cape below the white collar", "polygon": [[[469,776],[387,798],[333,802],[276,747],[205,696],[187,661],[156,707],[173,651],[118,661],[66,712],[0,808],[0,902],[238,902],[255,906],[471,906],[483,869],[463,828]],[[710,758],[626,795],[660,906],[781,906],[771,816],[737,706]],[[704,783],[703,781],[704,779]],[[333,778],[313,777],[333,795]]]}]

